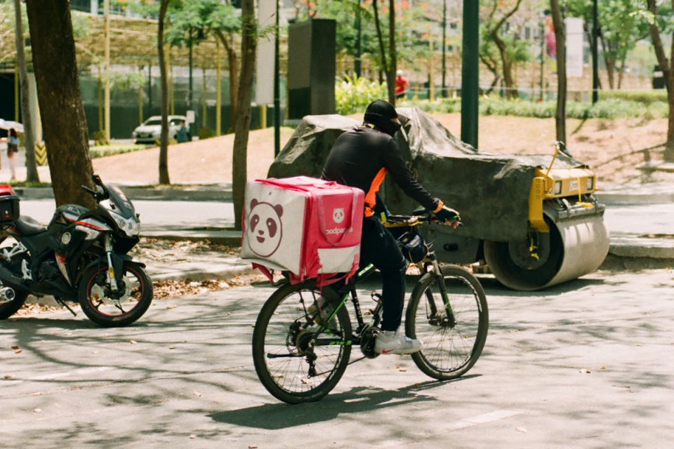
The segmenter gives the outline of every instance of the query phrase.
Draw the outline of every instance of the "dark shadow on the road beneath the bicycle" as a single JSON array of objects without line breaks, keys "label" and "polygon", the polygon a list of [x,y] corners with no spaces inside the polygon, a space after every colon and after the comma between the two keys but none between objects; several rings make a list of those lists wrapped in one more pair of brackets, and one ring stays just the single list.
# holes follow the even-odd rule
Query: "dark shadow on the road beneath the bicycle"
[{"label": "dark shadow on the road beneath the bicycle", "polygon": [[480,377],[480,374],[465,375],[455,380],[440,382],[432,380],[403,387],[397,390],[378,387],[355,387],[343,393],[329,394],[322,401],[289,406],[284,403],[227,410],[208,415],[213,421],[257,429],[279,430],[305,426],[336,419],[339,415],[369,413],[390,407],[404,407],[410,403],[437,401],[435,396],[423,391],[444,385]]}]

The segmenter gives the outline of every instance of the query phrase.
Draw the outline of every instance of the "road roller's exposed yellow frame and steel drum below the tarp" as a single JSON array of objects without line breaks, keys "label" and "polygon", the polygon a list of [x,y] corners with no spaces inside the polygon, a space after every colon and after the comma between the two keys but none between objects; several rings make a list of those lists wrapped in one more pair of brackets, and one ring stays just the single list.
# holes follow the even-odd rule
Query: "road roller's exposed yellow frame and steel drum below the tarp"
[{"label": "road roller's exposed yellow frame and steel drum below the tarp", "polygon": [[[570,152],[562,142],[557,151]],[[609,250],[604,205],[597,202],[596,176],[586,166],[538,166],[529,192],[528,232],[520,241],[480,241],[430,229],[440,260],[484,260],[504,286],[531,291],[576,279],[600,267]]]}]

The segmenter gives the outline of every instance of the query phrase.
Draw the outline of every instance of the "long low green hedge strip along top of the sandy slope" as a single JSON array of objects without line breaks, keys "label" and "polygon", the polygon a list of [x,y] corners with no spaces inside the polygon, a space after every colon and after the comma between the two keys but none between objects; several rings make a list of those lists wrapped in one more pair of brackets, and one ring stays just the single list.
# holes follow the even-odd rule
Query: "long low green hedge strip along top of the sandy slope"
[{"label": "long low green hedge strip along top of the sandy slope", "polygon": [[[425,112],[461,112],[461,99],[447,99],[434,102],[420,102],[415,106]],[[524,100],[504,100],[498,97],[480,98],[480,115],[536,117],[550,119],[555,116],[557,102],[531,102]],[[649,103],[621,98],[600,100],[595,105],[590,102],[567,102],[569,119],[618,119],[621,117],[657,118],[668,116],[666,102],[654,100]]]}]

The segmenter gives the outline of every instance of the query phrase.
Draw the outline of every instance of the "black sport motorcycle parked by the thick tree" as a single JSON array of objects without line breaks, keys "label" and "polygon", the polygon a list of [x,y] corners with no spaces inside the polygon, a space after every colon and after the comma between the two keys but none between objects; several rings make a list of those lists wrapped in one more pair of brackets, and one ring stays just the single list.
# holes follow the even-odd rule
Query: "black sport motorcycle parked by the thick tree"
[{"label": "black sport motorcycle parked by the thick tree", "polygon": [[79,302],[84,314],[104,327],[127,326],[152,303],[152,281],[145,264],[127,255],[140,233],[139,215],[123,192],[93,175],[95,190],[82,186],[96,201],[89,210],[76,204],[56,209],[47,227],[19,216],[19,199],[0,186],[0,319],[21,308],[29,294],[53,295]]}]

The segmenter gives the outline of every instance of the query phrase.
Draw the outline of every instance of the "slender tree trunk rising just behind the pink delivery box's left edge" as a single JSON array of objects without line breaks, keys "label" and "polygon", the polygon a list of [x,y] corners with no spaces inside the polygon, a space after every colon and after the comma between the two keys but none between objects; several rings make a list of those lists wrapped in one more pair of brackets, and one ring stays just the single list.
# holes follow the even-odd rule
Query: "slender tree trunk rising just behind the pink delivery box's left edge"
[{"label": "slender tree trunk rising just behind the pink delivery box's left edge", "polygon": [[248,180],[248,135],[251,128],[251,95],[255,74],[255,51],[257,23],[255,1],[241,1],[242,40],[241,78],[237,105],[237,121],[234,127],[234,151],[232,161],[232,190],[234,196],[234,227],[242,229],[244,191]]}]

